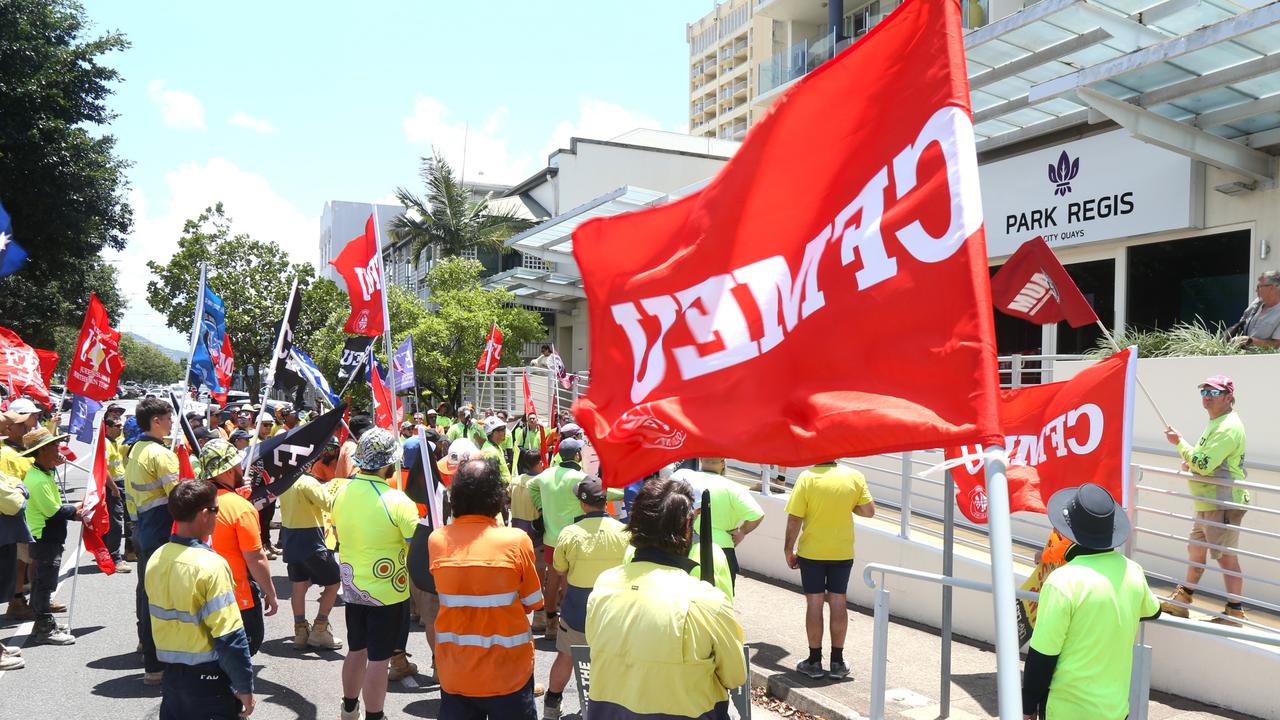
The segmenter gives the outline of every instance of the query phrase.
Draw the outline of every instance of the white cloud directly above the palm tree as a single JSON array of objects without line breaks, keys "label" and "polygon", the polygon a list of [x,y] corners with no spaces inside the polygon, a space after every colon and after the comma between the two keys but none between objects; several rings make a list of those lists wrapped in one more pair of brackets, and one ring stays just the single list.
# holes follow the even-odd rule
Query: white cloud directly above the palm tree
[{"label": "white cloud directly above the palm tree", "polygon": [[[421,146],[426,155],[434,147],[461,173],[466,155],[466,179],[513,184],[534,170],[527,152],[515,152],[503,137],[507,109],[498,108],[480,123],[451,117],[435,97],[420,96],[413,114],[404,118],[404,138]],[[465,152],[463,152],[465,150]]]}]

